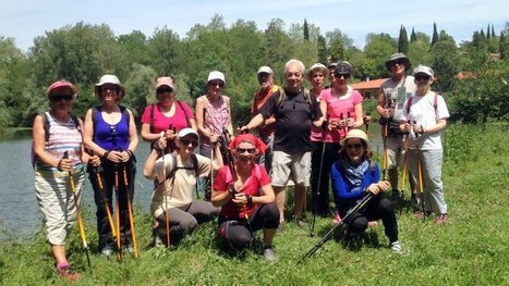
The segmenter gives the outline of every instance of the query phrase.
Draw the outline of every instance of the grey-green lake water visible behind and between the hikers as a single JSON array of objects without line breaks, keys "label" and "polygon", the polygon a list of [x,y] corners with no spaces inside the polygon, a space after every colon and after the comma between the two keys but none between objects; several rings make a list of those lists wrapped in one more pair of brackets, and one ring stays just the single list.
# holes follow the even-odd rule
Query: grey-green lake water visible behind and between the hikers
[{"label": "grey-green lake water visible behind and between the hikers", "polygon": [[[381,151],[380,128],[369,126],[373,151]],[[41,213],[34,190],[34,170],[31,164],[32,130],[0,134],[0,240],[5,232],[23,239],[41,227]],[[153,182],[146,179],[143,164],[148,157],[149,146],[140,137],[136,149],[137,174],[135,206],[148,212]],[[85,179],[84,206],[95,213],[94,196],[88,176]],[[94,220],[93,220],[94,221]]]}]

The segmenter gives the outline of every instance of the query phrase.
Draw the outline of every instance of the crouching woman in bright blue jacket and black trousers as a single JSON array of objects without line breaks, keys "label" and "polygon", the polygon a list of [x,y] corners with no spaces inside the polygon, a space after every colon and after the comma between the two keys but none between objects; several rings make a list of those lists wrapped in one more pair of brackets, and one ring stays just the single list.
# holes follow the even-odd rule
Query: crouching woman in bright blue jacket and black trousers
[{"label": "crouching woman in bright blue jacket and black trousers", "polygon": [[390,200],[383,195],[390,189],[388,181],[380,181],[380,170],[369,158],[367,136],[363,130],[352,129],[340,141],[339,160],[330,170],[332,191],[336,192],[336,206],[341,217],[357,204],[366,194],[373,198],[357,212],[350,214],[344,223],[348,225],[348,236],[353,238],[362,234],[368,221],[380,220],[385,234],[389,238],[389,247],[395,252],[401,252],[398,240],[398,223]]}]

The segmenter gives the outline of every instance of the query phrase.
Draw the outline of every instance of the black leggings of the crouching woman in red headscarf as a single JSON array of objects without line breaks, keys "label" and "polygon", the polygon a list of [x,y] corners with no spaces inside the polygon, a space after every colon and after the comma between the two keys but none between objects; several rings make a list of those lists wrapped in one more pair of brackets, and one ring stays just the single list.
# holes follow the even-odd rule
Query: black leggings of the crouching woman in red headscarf
[{"label": "black leggings of the crouching woman in red headscarf", "polygon": [[249,219],[219,217],[219,235],[233,250],[242,250],[253,241],[253,232],[279,226],[279,209],[275,202],[260,206]]}]

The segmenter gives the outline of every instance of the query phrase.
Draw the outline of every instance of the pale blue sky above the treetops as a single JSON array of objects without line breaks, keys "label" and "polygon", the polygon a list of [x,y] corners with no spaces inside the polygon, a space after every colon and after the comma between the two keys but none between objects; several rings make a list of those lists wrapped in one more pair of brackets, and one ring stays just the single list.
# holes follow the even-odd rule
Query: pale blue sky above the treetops
[{"label": "pale blue sky above the treetops", "polygon": [[368,33],[386,33],[398,37],[401,25],[431,36],[433,23],[457,43],[471,40],[474,30],[494,25],[500,34],[509,22],[507,0],[1,0],[0,37],[15,39],[16,47],[27,51],[34,38],[46,32],[83,21],[107,24],[119,36],[141,30],[147,37],[156,28],[167,26],[181,38],[195,25],[209,23],[219,14],[227,26],[237,20],[254,21],[264,30],[272,18],[291,24],[319,27],[320,34],[340,29],[354,46],[363,48]]}]

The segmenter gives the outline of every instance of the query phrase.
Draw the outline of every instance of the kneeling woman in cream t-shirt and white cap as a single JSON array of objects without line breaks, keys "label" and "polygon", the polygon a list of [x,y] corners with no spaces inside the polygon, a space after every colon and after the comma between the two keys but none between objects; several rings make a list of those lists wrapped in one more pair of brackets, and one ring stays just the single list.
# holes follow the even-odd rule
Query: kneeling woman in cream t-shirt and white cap
[{"label": "kneeling woman in cream t-shirt and white cap", "polygon": [[[156,235],[163,238],[169,231],[171,238],[180,240],[199,223],[208,222],[219,213],[219,209],[210,202],[194,200],[193,190],[196,178],[210,175],[211,169],[219,170],[222,160],[216,159],[211,162],[206,157],[193,153],[198,145],[198,134],[192,128],[179,132],[175,139],[177,152],[160,157],[166,144],[165,137],[157,141],[145,163],[143,174],[159,183],[150,203],[150,212],[159,223]],[[219,154],[219,148],[216,154]],[[162,240],[170,243],[169,239]],[[173,243],[175,241],[171,240],[170,244]]]}]

